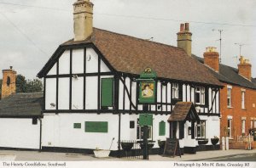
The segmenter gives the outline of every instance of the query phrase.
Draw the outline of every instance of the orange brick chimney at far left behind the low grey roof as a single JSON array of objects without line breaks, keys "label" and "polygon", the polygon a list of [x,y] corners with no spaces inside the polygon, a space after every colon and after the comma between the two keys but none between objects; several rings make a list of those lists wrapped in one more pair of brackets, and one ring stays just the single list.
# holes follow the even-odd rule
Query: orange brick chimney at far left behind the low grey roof
[{"label": "orange brick chimney at far left behind the low grey roof", "polygon": [[16,92],[16,71],[10,66],[9,70],[3,70],[2,98]]}]

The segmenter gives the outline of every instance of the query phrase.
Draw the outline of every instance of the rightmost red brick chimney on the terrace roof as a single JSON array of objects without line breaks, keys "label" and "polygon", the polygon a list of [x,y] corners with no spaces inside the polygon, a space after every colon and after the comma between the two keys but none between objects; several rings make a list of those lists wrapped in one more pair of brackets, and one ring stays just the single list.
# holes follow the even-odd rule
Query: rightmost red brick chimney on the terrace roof
[{"label": "rightmost red brick chimney on the terrace roof", "polygon": [[245,77],[247,80],[252,80],[252,64],[249,63],[249,59],[244,59],[240,56],[240,64],[238,64],[238,74]]}]

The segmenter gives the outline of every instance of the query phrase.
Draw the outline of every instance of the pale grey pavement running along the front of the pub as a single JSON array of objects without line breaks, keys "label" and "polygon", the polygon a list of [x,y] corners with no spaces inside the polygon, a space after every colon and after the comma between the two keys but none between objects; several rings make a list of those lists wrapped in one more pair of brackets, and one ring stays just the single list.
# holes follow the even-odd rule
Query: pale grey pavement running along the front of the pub
[{"label": "pale grey pavement running along the front of the pub", "polygon": [[[149,155],[149,161],[196,161],[209,160],[227,156],[256,154],[256,149],[242,150],[213,150],[201,151],[196,154],[184,154],[181,157],[163,157],[161,155]],[[0,161],[145,161],[131,158],[95,158],[93,154],[67,154],[54,152],[38,151],[17,151],[17,150],[0,150]],[[256,161],[256,160],[255,160]]]}]

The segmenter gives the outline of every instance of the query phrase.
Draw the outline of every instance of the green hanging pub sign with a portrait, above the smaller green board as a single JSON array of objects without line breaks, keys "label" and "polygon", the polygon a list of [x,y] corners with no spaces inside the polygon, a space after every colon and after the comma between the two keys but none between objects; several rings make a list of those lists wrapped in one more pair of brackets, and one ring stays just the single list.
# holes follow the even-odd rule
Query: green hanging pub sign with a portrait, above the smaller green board
[{"label": "green hanging pub sign with a portrait, above the smaller green board", "polygon": [[139,103],[154,104],[155,103],[155,81],[156,74],[151,68],[146,68],[140,75],[139,87]]}]

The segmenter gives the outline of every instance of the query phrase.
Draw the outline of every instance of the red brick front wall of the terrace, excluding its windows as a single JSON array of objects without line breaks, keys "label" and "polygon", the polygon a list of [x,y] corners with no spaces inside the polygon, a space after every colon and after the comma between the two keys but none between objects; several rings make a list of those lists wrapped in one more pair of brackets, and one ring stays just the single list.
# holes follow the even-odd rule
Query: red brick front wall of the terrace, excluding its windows
[{"label": "red brick front wall of the terrace, excluding its windows", "polygon": [[[228,107],[227,100],[227,84],[220,91],[220,136],[224,137],[225,126],[228,126],[228,115],[232,116],[231,136],[236,138],[241,136],[241,119],[245,121],[245,133],[248,135],[248,130],[251,126],[251,119],[256,120],[256,90],[245,87],[231,86],[231,107]],[[245,91],[245,109],[241,109],[241,89]],[[256,127],[256,126],[254,126]]]}]

